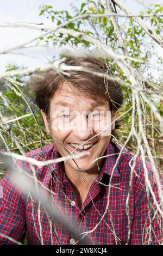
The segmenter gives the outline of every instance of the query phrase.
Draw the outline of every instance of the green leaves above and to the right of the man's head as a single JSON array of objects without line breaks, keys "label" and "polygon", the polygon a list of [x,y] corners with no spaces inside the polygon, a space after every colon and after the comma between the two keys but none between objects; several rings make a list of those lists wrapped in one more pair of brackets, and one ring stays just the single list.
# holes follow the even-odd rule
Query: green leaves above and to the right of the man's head
[{"label": "green leaves above and to the right of the man's head", "polygon": [[[105,10],[106,6],[104,5]],[[48,5],[44,5],[42,7],[42,13],[43,15],[46,15],[48,18],[52,19],[52,22],[55,22],[56,25],[60,25],[64,22],[72,20],[74,17],[77,17],[78,15],[85,15],[85,14],[104,14],[105,10],[101,9],[101,7],[97,4],[95,1],[83,1],[80,5],[80,7],[76,7],[72,5],[73,14],[70,15],[67,10],[57,11],[53,8],[49,8]],[[152,4],[148,9],[145,10],[145,13],[148,14],[161,14],[162,13],[162,6],[159,4]],[[141,15],[143,15],[143,11],[141,11]],[[142,17],[145,21],[151,21],[151,26],[156,31],[156,34],[161,35],[161,28],[162,28],[162,16],[160,17]],[[108,45],[108,47],[114,48],[115,52],[121,51],[120,42],[118,41],[114,27],[112,26],[112,22],[109,16],[105,17],[84,17],[83,19],[77,19],[73,20],[72,22],[68,23],[66,26],[64,26],[67,29],[72,29],[76,32],[82,32],[89,36],[92,36],[93,38],[96,38],[98,40],[101,40],[104,44]],[[120,32],[122,32],[122,37],[124,39],[124,42],[126,44],[127,50],[130,54],[130,57],[133,57],[135,59],[142,60],[143,62],[147,63],[150,62],[151,59],[155,56],[155,52],[152,50],[153,48],[153,41],[152,39],[143,31],[143,29],[137,25],[137,23],[131,19],[127,18],[124,25],[121,26]],[[70,44],[72,47],[79,47],[80,49],[83,48],[91,53],[98,52],[98,48],[96,46],[90,44],[90,42],[87,42],[81,38],[75,38],[71,35],[64,35],[59,33],[58,38],[55,38],[55,34],[48,36],[46,40],[52,40],[53,46],[55,48],[62,47],[63,45]],[[147,42],[147,44],[145,43]],[[64,54],[61,53],[60,57],[64,57]],[[159,56],[155,56],[158,59],[158,64],[161,64],[161,59]],[[117,64],[111,60],[106,59],[106,62],[111,67],[112,72],[117,77],[122,78],[125,82],[129,82],[127,78],[123,75],[123,72],[118,68]],[[132,65],[134,68],[139,70],[143,73],[147,72],[148,78],[154,80],[154,77],[152,75],[152,72],[149,72],[149,66],[146,64],[142,64],[140,62],[136,62],[133,60]],[[160,80],[161,81],[161,80]],[[127,111],[131,105],[131,89],[122,86],[123,93],[124,93],[124,106],[122,108],[122,113],[124,111]],[[162,114],[162,105],[157,106],[160,104],[160,102],[153,101],[153,104],[158,107],[160,114]],[[151,109],[146,106],[147,111],[147,120],[151,120]],[[138,117],[136,118],[138,120]],[[148,130],[148,136],[150,137],[152,134],[151,130],[151,123],[147,121],[147,130]],[[154,125],[158,125],[158,121],[154,119]],[[122,143],[126,140],[128,137],[129,131],[131,127],[131,111],[128,112],[123,117],[123,127],[120,130],[120,138]],[[154,131],[155,138],[159,138],[160,133],[159,130]],[[152,141],[149,140],[149,144]],[[156,142],[156,144],[159,144],[159,142]],[[129,143],[130,149],[135,150],[136,144],[133,139],[131,139],[131,142]],[[157,147],[157,146],[156,146]]]}]

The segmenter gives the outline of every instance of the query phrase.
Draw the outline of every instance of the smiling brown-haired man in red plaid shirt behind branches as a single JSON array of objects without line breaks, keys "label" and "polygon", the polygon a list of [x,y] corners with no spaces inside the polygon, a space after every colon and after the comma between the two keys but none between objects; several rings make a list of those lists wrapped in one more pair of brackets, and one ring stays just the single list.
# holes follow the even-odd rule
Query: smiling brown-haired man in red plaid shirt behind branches
[{"label": "smiling brown-haired man in red plaid shirt behind branches", "polygon": [[[19,166],[31,182],[36,177],[42,196],[48,193],[52,209],[59,209],[60,216],[81,237],[85,235],[88,245],[160,245],[162,218],[155,206],[160,198],[152,168],[147,162],[153,193],[146,189],[142,159],[138,157],[132,169],[134,155],[127,149],[120,152],[121,147],[112,142],[120,126],[116,120],[123,102],[120,84],[95,75],[111,75],[96,58],[67,58],[65,63],[72,70],[47,71],[31,82],[53,144],[27,156],[37,161],[84,156],[42,167],[20,161]],[[82,68],[76,71],[74,66]],[[5,174],[1,186],[1,245],[22,242],[26,231],[29,245],[82,243],[64,224],[48,216],[30,193],[21,191],[11,174]]]}]

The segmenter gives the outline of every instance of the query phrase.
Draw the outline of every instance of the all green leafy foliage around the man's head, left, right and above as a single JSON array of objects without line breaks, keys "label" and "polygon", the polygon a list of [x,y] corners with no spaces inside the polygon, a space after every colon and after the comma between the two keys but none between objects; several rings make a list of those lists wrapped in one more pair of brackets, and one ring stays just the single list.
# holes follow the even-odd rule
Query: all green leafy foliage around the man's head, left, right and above
[{"label": "all green leafy foliage around the man's head, left, right and above", "polygon": [[[40,16],[44,15],[48,19],[51,19],[54,25],[61,25],[64,22],[71,21],[73,18],[77,17],[78,15],[85,15],[85,14],[104,14],[105,11],[101,9],[100,6],[97,5],[95,1],[82,1],[80,7],[75,7],[72,5],[72,14],[68,13],[67,10],[57,11],[51,5],[43,5],[40,8]],[[152,4],[151,7],[146,10],[148,14],[161,14],[163,7],[159,4]],[[143,12],[141,12],[143,15]],[[142,17],[143,20],[151,21],[151,26],[156,31],[156,34],[161,35],[161,29],[163,24],[162,17]],[[67,25],[64,26],[67,29],[71,29],[72,31],[85,33],[86,35],[92,36],[103,42],[108,48],[114,49],[115,52],[121,53],[122,49],[120,43],[117,40],[115,35],[114,27],[112,26],[112,22],[109,16],[105,17],[84,17],[83,19],[73,20]],[[127,46],[127,50],[130,54],[130,57],[140,59],[142,61],[148,62],[154,56],[154,51],[152,51],[153,42],[149,38],[149,36],[143,31],[143,29],[135,23],[133,19],[126,19],[124,26],[120,28],[122,32],[122,36],[124,42]],[[57,35],[57,36],[56,36]],[[148,44],[145,44],[148,42]],[[71,45],[74,48],[83,48],[87,49],[91,53],[97,53],[98,48],[95,47],[90,42],[83,40],[80,37],[74,37],[72,35],[62,34],[62,33],[51,33],[47,36],[40,37],[39,44],[49,44],[52,43],[54,48],[62,47],[63,45]],[[64,57],[64,53],[60,54],[60,57]],[[105,59],[105,58],[103,58]],[[118,68],[115,61],[107,58],[105,59],[108,65],[110,66],[112,72],[115,76],[120,77],[126,83],[129,83],[127,78],[124,76],[122,70]],[[161,63],[159,56],[157,57],[158,64]],[[153,79],[152,72],[149,72],[149,66],[141,64],[140,62],[136,62],[133,60],[132,65],[138,71],[148,72],[148,78]],[[7,66],[6,71],[11,71],[17,69],[17,66],[9,64]],[[0,127],[0,132],[5,139],[8,148],[15,153],[20,154],[20,149],[24,150],[25,152],[30,151],[35,148],[40,148],[46,144],[51,143],[51,137],[47,135],[44,130],[44,125],[42,122],[42,117],[39,109],[35,106],[34,102],[34,95],[30,93],[27,89],[27,86],[24,86],[24,77],[15,76],[13,77],[14,81],[9,82],[5,81],[1,84],[2,93],[4,97],[0,97],[0,113],[2,113],[3,117],[5,118],[17,118],[21,117],[22,115],[31,113],[31,109],[33,114],[29,117],[22,118],[17,120],[9,125],[5,126],[5,129],[2,130]],[[154,80],[154,79],[153,79]],[[18,83],[16,83],[18,82]],[[126,112],[130,109],[132,105],[132,97],[131,93],[132,90],[125,86],[122,86],[123,94],[124,94],[124,105],[119,112],[119,115]],[[148,86],[148,89],[150,87]],[[21,96],[20,96],[21,94]],[[160,101],[156,101],[153,99],[153,104],[161,116],[163,116],[163,105]],[[147,137],[149,145],[152,146],[152,126],[151,126],[151,108],[147,104],[145,104],[146,109],[146,116],[147,122],[145,124],[145,129],[147,130]],[[120,131],[118,132],[120,143],[123,144],[130,132],[131,129],[131,112],[132,109],[125,115],[123,115],[123,126],[121,127]],[[11,118],[10,118],[11,117]],[[137,124],[138,116],[136,114],[135,123]],[[39,124],[39,125],[38,125]],[[161,148],[160,143],[160,130],[159,130],[159,123],[158,120],[154,117],[154,139],[155,139],[155,148],[156,148],[156,156],[159,157],[161,155]],[[136,129],[139,129],[138,125]],[[15,139],[14,139],[15,138]],[[19,143],[19,145],[16,143]],[[136,151],[136,141],[134,138],[131,138],[128,143],[128,148],[131,151]],[[0,144],[1,148],[5,148],[4,143]],[[162,160],[160,160],[159,164],[161,166]],[[4,170],[4,167],[1,168]],[[27,239],[26,239],[27,240]],[[24,241],[26,244],[26,241]]]}]

